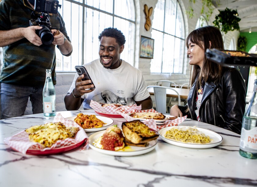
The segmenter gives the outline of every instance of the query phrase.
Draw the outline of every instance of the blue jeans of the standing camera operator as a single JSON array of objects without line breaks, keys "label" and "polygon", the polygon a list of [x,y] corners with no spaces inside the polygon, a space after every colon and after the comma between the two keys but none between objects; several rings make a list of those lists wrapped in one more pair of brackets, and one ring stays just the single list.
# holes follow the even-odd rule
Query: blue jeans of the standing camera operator
[{"label": "blue jeans of the standing camera operator", "polygon": [[43,87],[1,83],[1,119],[23,116],[28,97],[32,103],[33,114],[43,113]]}]

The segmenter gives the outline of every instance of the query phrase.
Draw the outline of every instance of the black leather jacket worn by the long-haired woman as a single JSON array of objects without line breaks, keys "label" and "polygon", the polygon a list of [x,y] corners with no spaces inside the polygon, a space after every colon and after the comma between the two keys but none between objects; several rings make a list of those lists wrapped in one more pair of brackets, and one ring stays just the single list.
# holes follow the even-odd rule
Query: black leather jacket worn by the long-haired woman
[{"label": "black leather jacket worn by the long-haired woman", "polygon": [[[178,106],[183,116],[195,118],[196,82],[188,94],[187,106]],[[199,108],[201,122],[209,123],[235,133],[241,133],[242,119],[245,110],[246,86],[242,75],[236,68],[223,67],[222,78],[218,84],[206,82]]]}]

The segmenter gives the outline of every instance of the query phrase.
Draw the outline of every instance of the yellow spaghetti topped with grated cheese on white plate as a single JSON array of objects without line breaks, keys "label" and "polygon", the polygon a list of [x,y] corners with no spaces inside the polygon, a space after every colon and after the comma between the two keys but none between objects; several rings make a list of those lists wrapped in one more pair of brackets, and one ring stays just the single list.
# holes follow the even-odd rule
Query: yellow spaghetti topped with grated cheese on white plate
[{"label": "yellow spaghetti topped with grated cheese on white plate", "polygon": [[196,127],[173,127],[164,134],[165,138],[184,143],[206,144],[211,141],[209,136],[196,129]]}]

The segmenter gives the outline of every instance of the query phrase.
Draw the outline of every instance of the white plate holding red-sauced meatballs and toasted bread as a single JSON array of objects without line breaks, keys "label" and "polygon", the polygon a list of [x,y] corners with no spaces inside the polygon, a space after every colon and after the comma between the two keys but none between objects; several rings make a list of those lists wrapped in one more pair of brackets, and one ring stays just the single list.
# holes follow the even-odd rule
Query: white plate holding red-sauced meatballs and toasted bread
[{"label": "white plate holding red-sauced meatballs and toasted bread", "polygon": [[129,147],[132,149],[128,149],[126,150],[125,146],[125,151],[110,151],[110,150],[105,150],[105,149],[100,149],[97,148],[95,145],[93,145],[93,142],[98,139],[99,137],[102,136],[102,134],[105,132],[105,130],[96,132],[94,134],[91,134],[89,136],[89,147],[91,147],[91,149],[94,149],[95,151],[98,151],[100,153],[106,154],[106,155],[112,155],[112,156],[136,156],[136,155],[142,155],[145,154],[147,152],[152,151],[153,149],[155,149],[158,140],[152,140],[149,142],[149,145],[147,147],[137,147],[137,146],[131,146],[129,145]]}]

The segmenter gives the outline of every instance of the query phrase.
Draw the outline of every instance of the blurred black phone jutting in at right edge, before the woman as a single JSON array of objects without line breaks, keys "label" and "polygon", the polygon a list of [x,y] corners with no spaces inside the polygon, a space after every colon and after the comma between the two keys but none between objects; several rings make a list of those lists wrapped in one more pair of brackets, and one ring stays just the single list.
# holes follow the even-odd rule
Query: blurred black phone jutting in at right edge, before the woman
[{"label": "blurred black phone jutting in at right edge, before the woman", "polygon": [[257,55],[244,51],[207,49],[206,58],[218,64],[257,66]]}]

